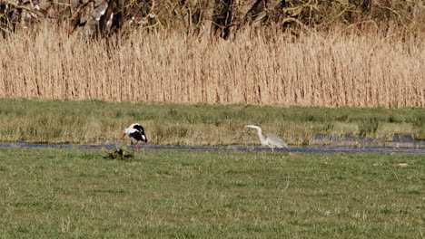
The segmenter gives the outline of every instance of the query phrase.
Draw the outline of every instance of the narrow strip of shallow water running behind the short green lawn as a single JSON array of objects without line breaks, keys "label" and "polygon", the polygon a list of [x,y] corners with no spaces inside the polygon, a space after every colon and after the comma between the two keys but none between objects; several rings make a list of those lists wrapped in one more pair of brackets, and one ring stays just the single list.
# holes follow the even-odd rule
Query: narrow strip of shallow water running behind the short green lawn
[{"label": "narrow strip of shallow water running behind the short green lawn", "polygon": [[[2,148],[81,148],[81,149],[112,149],[116,145],[73,145],[73,144],[30,144],[26,142],[0,143]],[[134,148],[131,146],[130,148]],[[147,150],[196,150],[196,151],[271,151],[270,148],[260,147],[213,147],[213,146],[162,146],[162,145],[140,145],[139,149]],[[381,153],[381,154],[425,154],[425,145],[413,144],[412,147],[390,147],[390,146],[341,146],[341,145],[312,145],[290,148],[276,148],[274,152],[300,152],[300,153]]]}]

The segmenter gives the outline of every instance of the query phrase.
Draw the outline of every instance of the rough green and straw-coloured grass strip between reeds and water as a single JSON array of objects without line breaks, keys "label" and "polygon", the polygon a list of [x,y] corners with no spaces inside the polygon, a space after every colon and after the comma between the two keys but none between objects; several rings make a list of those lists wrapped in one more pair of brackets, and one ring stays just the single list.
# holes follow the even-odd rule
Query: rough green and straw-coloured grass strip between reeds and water
[{"label": "rough green and straw-coloured grass strip between reeds and water", "polygon": [[104,143],[133,122],[143,124],[150,143],[164,145],[258,144],[255,131],[244,127],[252,123],[292,145],[311,144],[316,133],[425,139],[424,109],[0,99],[0,141]]}]

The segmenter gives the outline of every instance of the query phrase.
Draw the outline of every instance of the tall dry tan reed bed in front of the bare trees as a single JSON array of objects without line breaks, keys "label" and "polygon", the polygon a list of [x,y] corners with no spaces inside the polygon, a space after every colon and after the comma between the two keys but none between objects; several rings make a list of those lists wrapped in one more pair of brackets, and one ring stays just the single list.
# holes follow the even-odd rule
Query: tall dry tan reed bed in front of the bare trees
[{"label": "tall dry tan reed bed in front of the bare trees", "polygon": [[136,33],[107,51],[44,28],[0,38],[0,97],[423,108],[422,40],[334,31],[212,42]]}]

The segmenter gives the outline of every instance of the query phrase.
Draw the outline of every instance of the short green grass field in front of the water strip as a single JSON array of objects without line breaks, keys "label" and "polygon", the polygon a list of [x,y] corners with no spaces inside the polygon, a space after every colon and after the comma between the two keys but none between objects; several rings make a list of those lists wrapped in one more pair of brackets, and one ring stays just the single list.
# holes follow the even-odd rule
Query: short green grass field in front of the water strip
[{"label": "short green grass field in front of the water strip", "polygon": [[422,156],[104,155],[0,148],[0,238],[423,236]]}]

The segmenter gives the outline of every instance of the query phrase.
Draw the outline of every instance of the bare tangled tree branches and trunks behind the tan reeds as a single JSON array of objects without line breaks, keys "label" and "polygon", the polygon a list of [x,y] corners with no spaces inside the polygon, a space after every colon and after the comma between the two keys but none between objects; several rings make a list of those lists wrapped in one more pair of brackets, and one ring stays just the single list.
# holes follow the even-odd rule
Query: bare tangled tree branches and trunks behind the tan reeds
[{"label": "bare tangled tree branches and trunks behind the tan reeds", "polygon": [[135,29],[177,30],[228,39],[246,27],[278,25],[296,29],[335,25],[364,29],[389,27],[420,33],[425,22],[422,1],[410,0],[4,0],[1,29],[34,28],[42,22],[107,36]]}]

